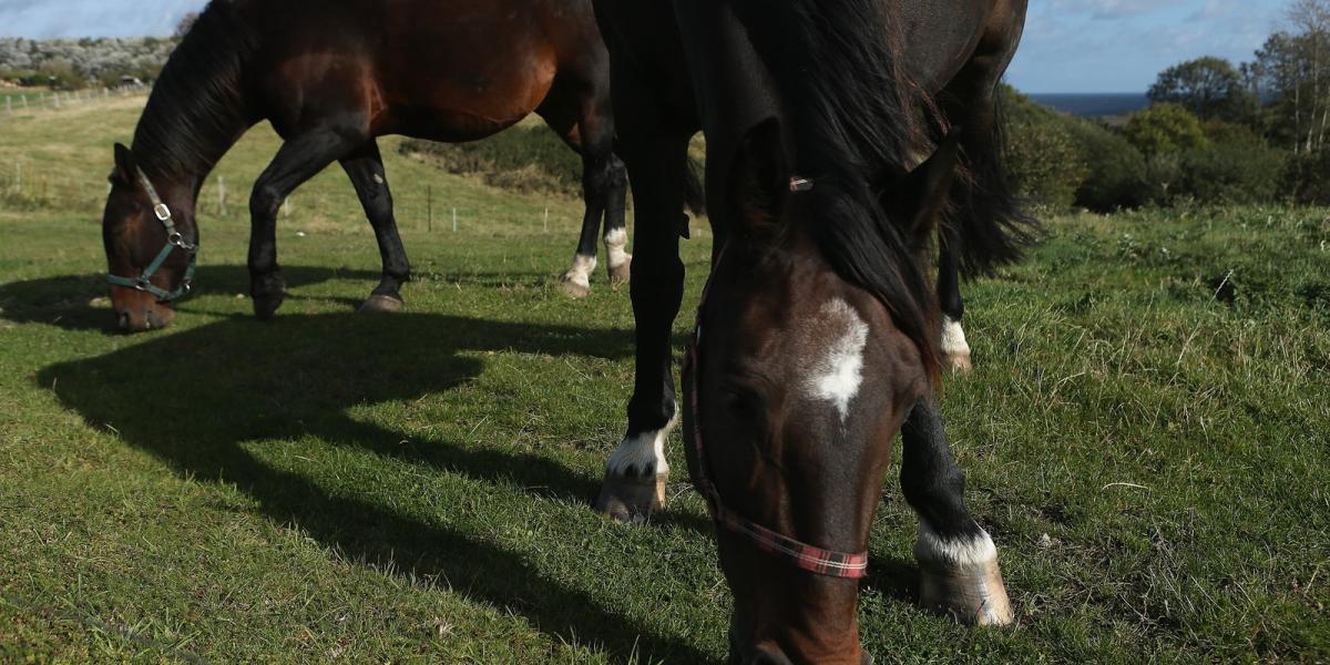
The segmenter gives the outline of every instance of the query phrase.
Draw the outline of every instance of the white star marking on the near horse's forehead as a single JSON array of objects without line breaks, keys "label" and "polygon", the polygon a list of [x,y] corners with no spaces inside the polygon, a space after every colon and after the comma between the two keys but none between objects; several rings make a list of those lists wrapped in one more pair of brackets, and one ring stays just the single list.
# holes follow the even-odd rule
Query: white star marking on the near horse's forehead
[{"label": "white star marking on the near horse's forehead", "polygon": [[835,404],[843,422],[850,402],[863,383],[863,347],[868,342],[868,325],[850,303],[837,298],[822,306],[823,325],[838,335],[826,343],[825,354],[809,368],[805,390],[813,399]]}]

